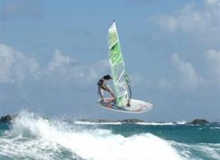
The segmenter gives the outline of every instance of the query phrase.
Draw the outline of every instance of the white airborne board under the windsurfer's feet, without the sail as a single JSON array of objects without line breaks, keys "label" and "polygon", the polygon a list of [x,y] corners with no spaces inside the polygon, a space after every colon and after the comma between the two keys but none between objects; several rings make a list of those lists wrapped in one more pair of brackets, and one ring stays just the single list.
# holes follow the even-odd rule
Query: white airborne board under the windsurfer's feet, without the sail
[{"label": "white airborne board under the windsurfer's feet, without the sail", "polygon": [[97,103],[105,109],[124,113],[144,113],[153,109],[153,104],[137,99],[131,99],[130,106],[118,106],[112,97],[105,98],[105,101],[99,99]]}]

